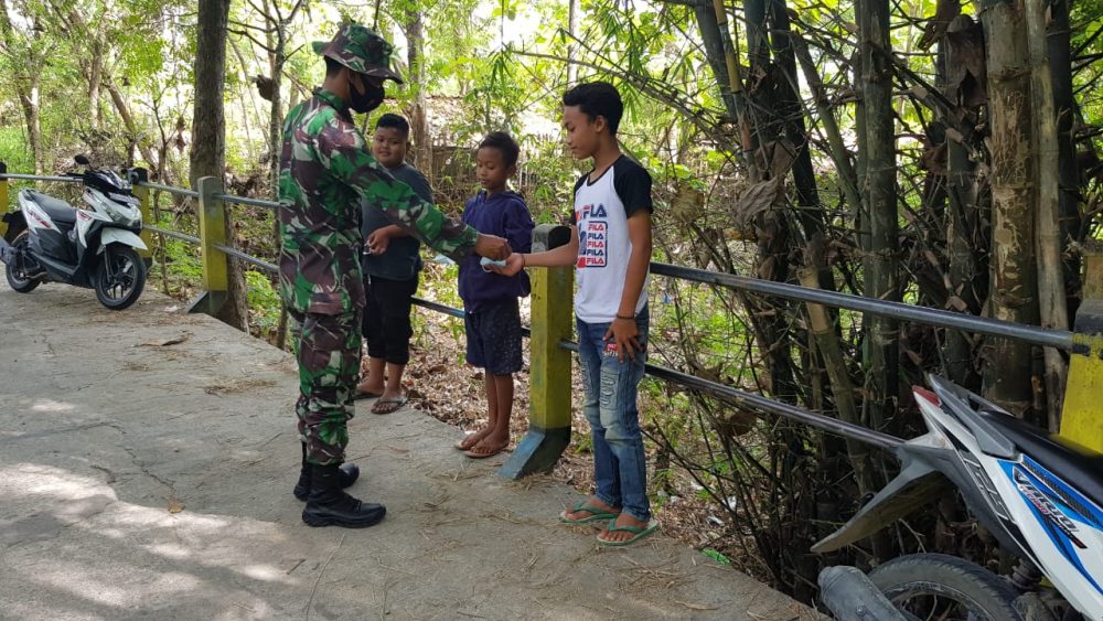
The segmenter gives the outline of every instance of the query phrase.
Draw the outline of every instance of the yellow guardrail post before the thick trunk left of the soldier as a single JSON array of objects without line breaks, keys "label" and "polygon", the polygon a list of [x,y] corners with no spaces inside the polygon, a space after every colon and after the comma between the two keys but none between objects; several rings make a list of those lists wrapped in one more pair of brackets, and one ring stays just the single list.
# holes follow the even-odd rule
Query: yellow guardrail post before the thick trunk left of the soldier
[{"label": "yellow guardrail post before the thick trunk left of the soldier", "polygon": [[199,181],[200,203],[196,214],[200,221],[200,253],[203,261],[203,288],[205,291],[192,300],[188,312],[203,312],[216,317],[226,303],[229,290],[229,271],[226,253],[215,246],[226,245],[226,206],[215,194],[223,191],[222,180],[204,176]]}]

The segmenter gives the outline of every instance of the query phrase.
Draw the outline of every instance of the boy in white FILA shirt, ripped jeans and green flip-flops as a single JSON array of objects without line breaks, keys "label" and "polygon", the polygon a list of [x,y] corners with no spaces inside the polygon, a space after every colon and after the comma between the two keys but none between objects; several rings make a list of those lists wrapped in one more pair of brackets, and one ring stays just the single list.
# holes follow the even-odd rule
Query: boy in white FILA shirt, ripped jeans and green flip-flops
[{"label": "boy in white FILA shirt, ripped jeans and green flip-flops", "polygon": [[502,274],[574,265],[582,410],[593,435],[592,496],[565,511],[568,524],[601,526],[598,542],[633,544],[658,528],[647,500],[647,462],[635,397],[647,345],[651,175],[617,143],[624,105],[604,82],[579,84],[563,97],[566,141],[593,170],[575,184],[570,243],[546,253],[513,254]]}]

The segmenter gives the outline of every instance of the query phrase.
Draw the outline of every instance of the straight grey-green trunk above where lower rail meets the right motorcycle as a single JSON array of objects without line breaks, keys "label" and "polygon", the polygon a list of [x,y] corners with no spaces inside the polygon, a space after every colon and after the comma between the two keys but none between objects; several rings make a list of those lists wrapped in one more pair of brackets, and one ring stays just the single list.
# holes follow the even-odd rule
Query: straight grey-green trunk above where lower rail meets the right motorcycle
[{"label": "straight grey-green trunk above where lower rail meets the right motorcycle", "polygon": [[[865,295],[899,301],[897,276],[898,212],[896,132],[892,114],[892,68],[888,0],[861,0],[859,40],[866,125],[866,214],[869,234],[865,251]],[[898,399],[899,345],[897,322],[866,315],[866,425],[881,429]]]}]

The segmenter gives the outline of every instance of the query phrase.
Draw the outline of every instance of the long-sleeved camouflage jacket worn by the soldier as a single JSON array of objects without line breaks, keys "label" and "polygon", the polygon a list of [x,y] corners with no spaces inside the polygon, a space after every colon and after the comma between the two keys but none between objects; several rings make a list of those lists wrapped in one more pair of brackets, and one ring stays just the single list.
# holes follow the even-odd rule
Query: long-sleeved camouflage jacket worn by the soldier
[{"label": "long-sleeved camouflage jacket worn by the soldier", "polygon": [[364,306],[360,204],[378,205],[436,250],[463,258],[479,233],[445,217],[379,165],[328,90],[296,106],[283,122],[279,172],[279,291],[298,312],[340,314]]}]

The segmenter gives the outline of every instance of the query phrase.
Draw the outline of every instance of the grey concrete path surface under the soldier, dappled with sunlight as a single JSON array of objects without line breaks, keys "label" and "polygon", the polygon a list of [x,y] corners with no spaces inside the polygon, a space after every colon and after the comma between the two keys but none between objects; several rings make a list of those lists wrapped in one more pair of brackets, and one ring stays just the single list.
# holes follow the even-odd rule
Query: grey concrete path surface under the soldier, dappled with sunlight
[{"label": "grey concrete path surface under the soldier, dappled with sunlight", "polygon": [[403,409],[351,422],[364,531],[310,528],[292,358],[147,291],[0,278],[0,619],[813,619],[662,535],[599,548],[565,485]]}]

